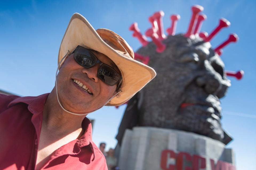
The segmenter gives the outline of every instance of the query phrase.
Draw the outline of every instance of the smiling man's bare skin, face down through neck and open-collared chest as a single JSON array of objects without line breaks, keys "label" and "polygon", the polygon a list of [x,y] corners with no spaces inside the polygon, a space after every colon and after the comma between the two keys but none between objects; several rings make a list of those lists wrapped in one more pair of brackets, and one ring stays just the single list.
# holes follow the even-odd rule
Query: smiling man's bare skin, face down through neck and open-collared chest
[{"label": "smiling man's bare skin, face down through neck and open-collared chest", "polygon": [[[93,52],[103,63],[119,72],[110,58]],[[109,86],[97,76],[99,64],[86,69],[80,66],[71,54],[62,63],[57,76],[58,96],[62,106],[73,113],[88,113],[101,108],[116,94],[117,85]],[[85,84],[93,95],[77,88],[72,79]],[[81,124],[86,115],[78,116],[65,112],[59,105],[56,87],[50,92],[43,109],[43,120],[38,142],[36,169],[42,168],[50,155],[59,147],[79,139],[85,129]]]}]

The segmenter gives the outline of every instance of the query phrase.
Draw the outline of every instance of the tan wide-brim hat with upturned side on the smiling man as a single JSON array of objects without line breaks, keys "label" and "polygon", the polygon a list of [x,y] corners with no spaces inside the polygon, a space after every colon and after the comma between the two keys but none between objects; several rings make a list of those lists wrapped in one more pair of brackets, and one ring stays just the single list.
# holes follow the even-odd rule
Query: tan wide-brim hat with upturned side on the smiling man
[{"label": "tan wide-brim hat with upturned side on the smiling man", "polygon": [[134,60],[133,50],[121,36],[105,28],[95,30],[81,14],[75,13],[61,41],[58,63],[78,45],[105,54],[121,71],[121,92],[106,104],[108,106],[125,103],[156,75],[154,69]]}]

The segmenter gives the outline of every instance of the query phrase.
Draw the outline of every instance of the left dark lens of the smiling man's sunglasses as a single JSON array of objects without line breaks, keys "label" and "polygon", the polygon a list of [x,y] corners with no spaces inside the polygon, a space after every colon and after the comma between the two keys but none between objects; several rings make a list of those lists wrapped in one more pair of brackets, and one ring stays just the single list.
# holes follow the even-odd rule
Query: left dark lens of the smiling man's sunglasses
[{"label": "left dark lens of the smiling man's sunglasses", "polygon": [[94,54],[84,48],[78,49],[77,52],[74,54],[74,58],[79,65],[85,68],[90,68],[94,66],[97,62],[97,58],[94,56]]}]

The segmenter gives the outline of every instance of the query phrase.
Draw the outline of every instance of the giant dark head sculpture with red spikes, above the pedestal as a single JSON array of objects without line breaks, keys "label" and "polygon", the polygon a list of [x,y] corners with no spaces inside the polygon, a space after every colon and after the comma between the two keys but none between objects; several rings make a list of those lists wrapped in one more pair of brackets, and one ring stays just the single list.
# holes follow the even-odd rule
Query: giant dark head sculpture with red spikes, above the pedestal
[{"label": "giant dark head sculpture with red spikes, above the pedestal", "polygon": [[[226,78],[220,55],[221,49],[229,42],[237,41],[238,37],[230,35],[229,40],[212,49],[209,41],[230,23],[221,19],[219,26],[208,37],[206,33],[200,33],[200,37],[198,30],[203,19],[199,16],[206,16],[198,14],[202,11],[201,6],[193,6],[192,11],[189,29],[184,35],[174,35],[179,16],[173,15],[173,24],[167,30],[169,35],[165,37],[163,31],[160,31],[161,17],[157,17],[163,16],[162,11],[153,15],[157,22],[151,22],[153,28],[146,32],[152,42],[147,42],[144,36],[139,35],[137,23],[130,27],[130,30],[135,31],[134,36],[143,44],[135,57],[141,60],[143,56],[145,60],[148,59],[145,57],[149,57],[148,65],[155,69],[157,76],[130,99],[116,137],[119,145],[125,129],[134,126],[190,131],[225,144],[232,140],[220,122],[222,116],[219,99],[225,96],[231,85]],[[195,19],[197,24],[192,31]]]}]

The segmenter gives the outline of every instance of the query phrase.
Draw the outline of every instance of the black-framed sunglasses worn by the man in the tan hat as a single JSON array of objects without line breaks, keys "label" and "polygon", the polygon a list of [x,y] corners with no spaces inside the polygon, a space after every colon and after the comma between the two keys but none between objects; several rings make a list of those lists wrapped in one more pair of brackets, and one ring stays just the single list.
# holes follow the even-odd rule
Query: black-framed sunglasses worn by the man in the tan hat
[{"label": "black-framed sunglasses worn by the man in the tan hat", "polygon": [[71,54],[73,53],[75,61],[87,69],[99,63],[97,75],[102,82],[109,86],[114,86],[118,82],[118,86],[121,84],[122,76],[113,67],[101,62],[89,49],[78,45]]}]

